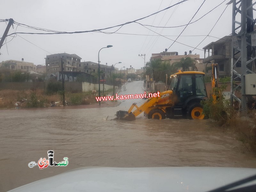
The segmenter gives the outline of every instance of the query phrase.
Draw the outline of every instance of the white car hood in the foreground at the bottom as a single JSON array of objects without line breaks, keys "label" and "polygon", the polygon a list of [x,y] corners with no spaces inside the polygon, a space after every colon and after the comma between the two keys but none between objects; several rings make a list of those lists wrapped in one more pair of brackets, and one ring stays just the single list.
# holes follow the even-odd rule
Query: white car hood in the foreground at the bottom
[{"label": "white car hood in the foreground at the bottom", "polygon": [[[219,188],[256,175],[256,169],[224,167],[86,167],[39,180],[12,192],[188,191]],[[256,184],[251,181],[246,185]]]}]

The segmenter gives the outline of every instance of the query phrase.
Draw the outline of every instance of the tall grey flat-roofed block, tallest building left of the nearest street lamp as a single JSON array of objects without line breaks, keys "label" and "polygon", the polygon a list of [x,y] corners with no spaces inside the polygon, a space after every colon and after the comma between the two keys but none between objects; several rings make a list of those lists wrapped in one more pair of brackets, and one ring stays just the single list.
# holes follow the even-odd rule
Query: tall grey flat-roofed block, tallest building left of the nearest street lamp
[{"label": "tall grey flat-roofed block, tallest building left of the nearest street lamp", "polygon": [[77,66],[81,62],[81,57],[76,54],[57,53],[47,55],[45,59],[47,76],[56,76],[59,79],[59,72],[61,71],[61,58],[63,60],[63,71],[77,71]]}]

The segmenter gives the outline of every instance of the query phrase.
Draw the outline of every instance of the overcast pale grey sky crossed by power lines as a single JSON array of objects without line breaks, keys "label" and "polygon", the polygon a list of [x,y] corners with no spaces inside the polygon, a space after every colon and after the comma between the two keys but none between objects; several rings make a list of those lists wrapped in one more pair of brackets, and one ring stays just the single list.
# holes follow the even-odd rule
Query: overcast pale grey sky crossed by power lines
[{"label": "overcast pale grey sky crossed by power lines", "polygon": [[[193,17],[203,1],[188,0],[177,7],[174,6],[167,11],[160,12],[139,22],[159,27],[184,25]],[[222,1],[206,0],[192,22]],[[1,2],[0,19],[12,18],[18,23],[57,31],[85,31],[111,27],[136,20],[178,2],[179,0],[8,0]],[[204,36],[190,35],[208,35],[228,2],[228,0],[225,1],[201,20],[188,25],[177,41],[192,47],[197,46],[204,39]],[[229,35],[231,33],[231,18],[232,4],[228,6],[210,35],[219,38]],[[6,26],[7,23],[0,22],[1,37]],[[16,27],[17,25],[14,25],[14,29],[11,28],[9,34],[13,33]],[[151,30],[175,40],[184,28],[165,28],[162,30],[162,28],[152,27]],[[112,28],[104,32],[114,32],[117,29]],[[42,31],[18,26],[16,32],[36,33]],[[82,61],[97,62],[100,48],[110,44],[113,47],[100,51],[101,64],[108,63],[108,65],[112,65],[121,61],[122,64],[116,64],[116,67],[129,67],[132,65],[133,68],[138,69],[144,66],[144,60],[138,56],[139,54],[146,54],[146,61],[149,61],[151,53],[162,52],[173,43],[172,40],[163,36],[152,36],[157,34],[137,23],[124,25],[117,33],[140,35],[104,34],[100,32],[59,35],[19,34],[45,51],[30,44],[20,36],[13,39],[9,36],[7,37],[7,42],[11,39],[12,41],[6,44],[7,47],[4,45],[1,48],[0,62],[24,58],[25,61],[39,65],[45,63],[44,58],[46,55],[61,52],[77,54],[82,58]],[[207,37],[198,48],[202,49],[205,45],[216,40],[218,39]],[[193,50],[193,48],[174,43],[168,51],[176,51],[182,55],[189,50]],[[204,57],[203,51],[195,50],[192,53],[200,54],[201,58]]]}]

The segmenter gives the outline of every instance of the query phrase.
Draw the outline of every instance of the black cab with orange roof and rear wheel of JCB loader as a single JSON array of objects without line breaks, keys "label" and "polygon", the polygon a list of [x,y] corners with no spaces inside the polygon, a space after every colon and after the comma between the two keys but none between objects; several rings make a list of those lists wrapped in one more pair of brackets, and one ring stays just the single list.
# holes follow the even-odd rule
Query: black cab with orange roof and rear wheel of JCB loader
[{"label": "black cab with orange roof and rear wheel of JCB loader", "polygon": [[174,106],[166,108],[167,117],[204,118],[200,104],[201,100],[207,98],[203,72],[184,71],[171,75],[170,89],[176,95],[176,100]]}]

